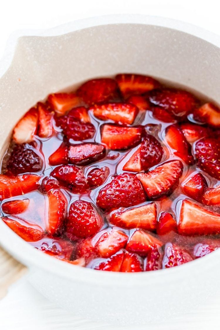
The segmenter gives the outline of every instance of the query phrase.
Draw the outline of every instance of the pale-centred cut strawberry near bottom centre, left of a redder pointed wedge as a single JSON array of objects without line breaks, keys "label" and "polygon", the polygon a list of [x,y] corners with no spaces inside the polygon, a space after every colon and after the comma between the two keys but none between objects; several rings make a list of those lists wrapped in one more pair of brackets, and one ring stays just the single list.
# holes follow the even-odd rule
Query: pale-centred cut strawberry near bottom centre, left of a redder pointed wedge
[{"label": "pale-centred cut strawberry near bottom centre, left of a redder pointed wedge", "polygon": [[111,229],[105,232],[95,245],[95,249],[103,258],[108,258],[121,248],[124,248],[128,241],[128,236],[120,230]]}]

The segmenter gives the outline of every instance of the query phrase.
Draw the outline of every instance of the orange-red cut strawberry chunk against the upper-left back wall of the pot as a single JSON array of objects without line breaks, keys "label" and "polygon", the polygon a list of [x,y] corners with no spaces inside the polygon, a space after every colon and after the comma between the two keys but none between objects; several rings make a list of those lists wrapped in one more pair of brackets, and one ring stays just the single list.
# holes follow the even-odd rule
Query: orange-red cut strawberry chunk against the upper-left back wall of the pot
[{"label": "orange-red cut strawberry chunk against the upper-left back wall of the pot", "polygon": [[82,100],[74,93],[50,94],[47,101],[57,116],[65,115],[72,108],[82,105]]}]

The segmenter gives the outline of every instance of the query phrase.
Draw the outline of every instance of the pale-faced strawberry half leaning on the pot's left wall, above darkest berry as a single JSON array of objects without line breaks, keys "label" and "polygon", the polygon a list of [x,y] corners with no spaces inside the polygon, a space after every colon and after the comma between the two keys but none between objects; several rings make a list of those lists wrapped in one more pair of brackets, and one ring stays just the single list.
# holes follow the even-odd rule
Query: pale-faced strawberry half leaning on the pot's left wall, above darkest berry
[{"label": "pale-faced strawberry half leaning on the pot's left wall, above darkest berry", "polygon": [[12,138],[17,144],[27,143],[34,140],[38,126],[38,110],[31,108],[18,121],[13,130]]}]

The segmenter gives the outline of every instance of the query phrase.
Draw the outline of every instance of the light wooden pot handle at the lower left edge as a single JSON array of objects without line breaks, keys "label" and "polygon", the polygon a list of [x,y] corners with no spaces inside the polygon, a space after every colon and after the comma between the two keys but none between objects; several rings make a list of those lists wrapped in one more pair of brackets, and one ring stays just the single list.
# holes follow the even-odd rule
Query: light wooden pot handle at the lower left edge
[{"label": "light wooden pot handle at the lower left edge", "polygon": [[23,276],[27,268],[0,247],[0,299],[6,296],[9,286]]}]

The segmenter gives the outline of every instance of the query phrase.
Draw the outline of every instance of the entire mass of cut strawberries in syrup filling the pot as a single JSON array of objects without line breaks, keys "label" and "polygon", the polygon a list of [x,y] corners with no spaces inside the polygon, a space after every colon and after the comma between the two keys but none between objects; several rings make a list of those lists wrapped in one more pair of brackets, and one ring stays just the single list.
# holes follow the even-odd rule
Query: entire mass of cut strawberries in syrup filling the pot
[{"label": "entire mass of cut strawberries in syrup filling the pot", "polygon": [[14,127],[0,200],[17,235],[75,265],[202,257],[220,247],[220,108],[136,74],[50,94]]}]

